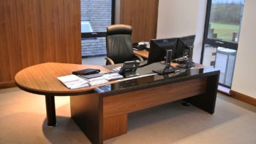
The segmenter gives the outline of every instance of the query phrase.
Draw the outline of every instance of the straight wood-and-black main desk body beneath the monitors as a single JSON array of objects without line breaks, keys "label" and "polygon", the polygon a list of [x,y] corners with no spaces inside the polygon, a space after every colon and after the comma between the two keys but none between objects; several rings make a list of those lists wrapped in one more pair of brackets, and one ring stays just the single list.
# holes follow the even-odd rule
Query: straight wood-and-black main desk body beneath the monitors
[{"label": "straight wood-and-black main desk body beneath the monitors", "polygon": [[[151,73],[153,63],[138,72]],[[70,97],[72,119],[92,143],[102,143],[127,133],[127,116],[134,111],[151,108],[189,97],[189,103],[214,113],[219,71],[214,68],[183,70],[164,76],[149,75],[117,81],[95,89],[93,94]]]}]

